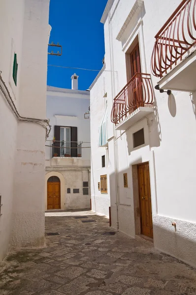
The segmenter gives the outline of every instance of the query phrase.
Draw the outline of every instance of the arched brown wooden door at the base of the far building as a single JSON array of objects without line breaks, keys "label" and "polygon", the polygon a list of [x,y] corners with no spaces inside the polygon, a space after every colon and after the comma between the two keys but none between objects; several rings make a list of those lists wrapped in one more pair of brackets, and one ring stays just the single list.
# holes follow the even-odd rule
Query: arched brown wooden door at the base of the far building
[{"label": "arched brown wooden door at the base of the far building", "polygon": [[57,176],[47,181],[47,209],[61,209],[61,182]]}]

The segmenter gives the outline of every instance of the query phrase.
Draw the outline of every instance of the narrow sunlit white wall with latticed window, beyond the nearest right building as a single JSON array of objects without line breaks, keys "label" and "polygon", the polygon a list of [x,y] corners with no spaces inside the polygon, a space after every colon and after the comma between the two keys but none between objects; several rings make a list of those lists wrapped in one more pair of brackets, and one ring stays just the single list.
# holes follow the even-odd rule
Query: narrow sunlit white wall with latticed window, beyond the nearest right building
[{"label": "narrow sunlit white wall with latticed window, beyond the nearest right building", "polygon": [[[110,81],[110,73],[104,71],[104,66],[101,75],[94,81],[91,89],[91,201],[92,210],[101,213],[103,215],[109,215],[110,207],[110,155],[107,152],[107,148],[98,147],[98,128],[101,125],[106,100],[108,97],[103,97],[106,93],[108,96],[108,88]],[[109,118],[110,120],[110,118]],[[101,157],[105,155],[105,168],[102,168]],[[100,176],[107,174],[107,194],[101,194],[98,190],[98,182],[100,182]]]}]

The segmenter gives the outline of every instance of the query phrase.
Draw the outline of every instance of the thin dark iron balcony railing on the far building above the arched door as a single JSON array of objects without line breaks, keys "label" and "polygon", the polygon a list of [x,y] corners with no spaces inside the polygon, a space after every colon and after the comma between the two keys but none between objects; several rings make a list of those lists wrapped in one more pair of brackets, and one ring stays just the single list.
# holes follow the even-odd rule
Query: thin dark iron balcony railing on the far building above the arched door
[{"label": "thin dark iron balcony railing on the far building above the arched door", "polygon": [[47,141],[51,157],[82,157],[82,142]]}]

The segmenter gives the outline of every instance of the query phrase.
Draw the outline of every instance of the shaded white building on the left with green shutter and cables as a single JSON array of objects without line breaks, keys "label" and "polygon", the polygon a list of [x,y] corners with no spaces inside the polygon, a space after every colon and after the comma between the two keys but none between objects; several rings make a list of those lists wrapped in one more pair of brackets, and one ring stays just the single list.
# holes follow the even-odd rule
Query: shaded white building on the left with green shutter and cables
[{"label": "shaded white building on the left with green shutter and cables", "polygon": [[0,1],[0,260],[44,245],[49,0]]}]

